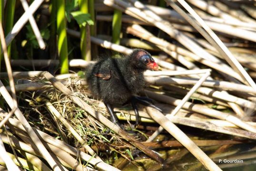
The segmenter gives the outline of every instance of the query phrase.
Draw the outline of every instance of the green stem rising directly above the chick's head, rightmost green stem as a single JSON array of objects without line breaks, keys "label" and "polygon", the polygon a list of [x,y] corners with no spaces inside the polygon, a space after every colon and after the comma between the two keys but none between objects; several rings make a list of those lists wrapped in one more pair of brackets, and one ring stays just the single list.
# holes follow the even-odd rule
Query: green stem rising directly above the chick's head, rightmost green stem
[{"label": "green stem rising directly above the chick's head, rightmost green stem", "polygon": [[122,12],[114,10],[113,22],[112,22],[112,42],[120,44],[120,33],[122,25]]}]

